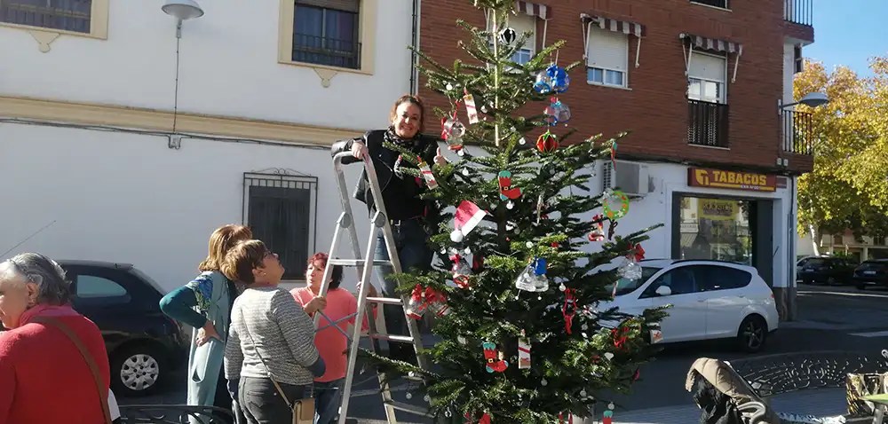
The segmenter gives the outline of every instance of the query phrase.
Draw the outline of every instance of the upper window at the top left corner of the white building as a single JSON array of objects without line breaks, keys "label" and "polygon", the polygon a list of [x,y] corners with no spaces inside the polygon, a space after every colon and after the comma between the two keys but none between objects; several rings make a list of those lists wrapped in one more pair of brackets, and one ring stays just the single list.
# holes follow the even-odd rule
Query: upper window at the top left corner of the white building
[{"label": "upper window at the top left corner of the white building", "polygon": [[0,0],[0,22],[107,37],[108,0]]}]

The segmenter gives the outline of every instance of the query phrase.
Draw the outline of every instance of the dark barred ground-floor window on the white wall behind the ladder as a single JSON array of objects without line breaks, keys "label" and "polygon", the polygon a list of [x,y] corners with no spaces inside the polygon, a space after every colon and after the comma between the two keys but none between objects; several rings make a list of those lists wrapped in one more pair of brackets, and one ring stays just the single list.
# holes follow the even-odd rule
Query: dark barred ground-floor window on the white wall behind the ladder
[{"label": "dark barred ground-floor window on the white wall behind the ladder", "polygon": [[304,279],[314,253],[317,177],[274,169],[243,175],[243,216],[253,237],[281,260],[284,279]]}]

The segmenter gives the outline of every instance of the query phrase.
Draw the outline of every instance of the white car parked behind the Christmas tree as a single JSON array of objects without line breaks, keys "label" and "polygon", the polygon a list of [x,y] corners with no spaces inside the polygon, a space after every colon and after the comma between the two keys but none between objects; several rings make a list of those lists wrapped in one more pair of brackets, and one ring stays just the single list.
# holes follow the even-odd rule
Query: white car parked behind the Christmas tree
[{"label": "white car parked behind the Christmas tree", "polygon": [[[691,342],[735,338],[741,349],[756,352],[768,334],[777,330],[780,318],[773,291],[747,265],[707,260],[644,260],[642,277],[620,279],[611,302],[599,302],[597,310],[611,307],[633,315],[671,304],[653,342]],[[597,270],[614,269],[615,263]],[[613,290],[613,286],[610,286]],[[604,324],[604,323],[602,323]]]}]

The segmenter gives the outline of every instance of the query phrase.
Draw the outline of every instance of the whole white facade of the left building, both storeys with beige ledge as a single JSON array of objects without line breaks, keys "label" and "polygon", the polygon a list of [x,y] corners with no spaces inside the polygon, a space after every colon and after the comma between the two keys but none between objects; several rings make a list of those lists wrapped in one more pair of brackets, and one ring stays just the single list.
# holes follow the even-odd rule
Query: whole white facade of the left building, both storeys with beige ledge
[{"label": "whole white facade of the left building, both storeys with beige ledge", "polygon": [[[356,31],[372,55],[356,70],[281,63],[284,3],[248,3],[201,0],[205,14],[183,22],[178,39],[155,1],[110,2],[105,38],[0,24],[0,98],[16,103],[0,100],[0,180],[20,205],[0,219],[0,253],[30,238],[3,258],[132,263],[164,289],[179,287],[210,232],[247,224],[244,173],[269,169],[316,179],[309,255],[329,249],[341,212],[329,144],[385,128],[410,90],[412,3],[361,2],[368,13]],[[204,128],[247,135],[177,130],[170,148],[174,111],[180,123],[211,117]],[[348,167],[349,193],[359,172]],[[353,200],[353,210],[364,244],[366,207]],[[349,252],[342,241],[340,255]]]}]

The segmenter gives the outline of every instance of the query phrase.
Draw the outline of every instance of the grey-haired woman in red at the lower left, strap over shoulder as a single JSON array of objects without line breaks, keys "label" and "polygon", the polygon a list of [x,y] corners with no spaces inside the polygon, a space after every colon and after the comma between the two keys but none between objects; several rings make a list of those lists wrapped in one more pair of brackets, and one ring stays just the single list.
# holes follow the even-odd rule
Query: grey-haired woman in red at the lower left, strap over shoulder
[{"label": "grey-haired woman in red at the lower left, strap over shoulder", "polygon": [[0,263],[0,424],[110,423],[99,327],[70,306],[70,284],[34,253]]}]

